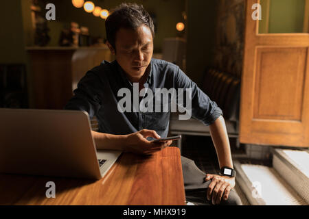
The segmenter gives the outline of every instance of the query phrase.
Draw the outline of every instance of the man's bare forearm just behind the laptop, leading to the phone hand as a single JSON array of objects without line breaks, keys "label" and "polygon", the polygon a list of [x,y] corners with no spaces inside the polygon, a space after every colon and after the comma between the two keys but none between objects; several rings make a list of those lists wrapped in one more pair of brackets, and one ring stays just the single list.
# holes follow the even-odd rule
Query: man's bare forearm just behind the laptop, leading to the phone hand
[{"label": "man's bare forearm just behind the laptop, leading to the phone hand", "polygon": [[123,150],[125,136],[91,131],[97,149]]}]

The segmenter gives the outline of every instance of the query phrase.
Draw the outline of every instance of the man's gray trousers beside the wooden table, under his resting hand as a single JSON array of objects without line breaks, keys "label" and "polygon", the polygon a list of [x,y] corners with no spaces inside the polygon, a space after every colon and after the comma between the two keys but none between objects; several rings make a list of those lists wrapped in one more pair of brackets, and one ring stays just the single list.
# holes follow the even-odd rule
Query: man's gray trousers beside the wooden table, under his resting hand
[{"label": "man's gray trousers beside the wooden table, under his resting hand", "polygon": [[[181,156],[183,167],[183,182],[185,183],[185,199],[194,205],[212,205],[207,200],[207,188],[211,180],[205,181],[206,174],[200,170],[192,159]],[[221,200],[220,205],[242,205],[240,197],[232,189],[229,192],[227,201]]]}]

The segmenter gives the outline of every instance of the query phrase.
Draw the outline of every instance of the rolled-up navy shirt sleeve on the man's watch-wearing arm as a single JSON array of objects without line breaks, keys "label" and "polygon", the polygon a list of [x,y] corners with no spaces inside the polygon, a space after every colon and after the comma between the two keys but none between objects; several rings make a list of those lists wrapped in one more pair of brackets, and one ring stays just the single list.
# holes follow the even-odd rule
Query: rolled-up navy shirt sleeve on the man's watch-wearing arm
[{"label": "rolled-up navy shirt sleeve on the man's watch-wearing arm", "polygon": [[192,81],[183,71],[178,67],[174,77],[176,88],[191,88],[192,90],[192,117],[200,120],[205,125],[211,125],[214,121],[222,115],[222,110],[218,105],[209,99],[194,81]]}]

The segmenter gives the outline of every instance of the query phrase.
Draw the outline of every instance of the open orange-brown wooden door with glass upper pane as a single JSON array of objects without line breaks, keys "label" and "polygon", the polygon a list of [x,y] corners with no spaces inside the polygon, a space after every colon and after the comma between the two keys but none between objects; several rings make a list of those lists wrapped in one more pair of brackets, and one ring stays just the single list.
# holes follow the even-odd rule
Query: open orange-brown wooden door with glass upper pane
[{"label": "open orange-brown wooden door with glass upper pane", "polygon": [[246,3],[240,142],[308,147],[309,34],[258,34]]}]

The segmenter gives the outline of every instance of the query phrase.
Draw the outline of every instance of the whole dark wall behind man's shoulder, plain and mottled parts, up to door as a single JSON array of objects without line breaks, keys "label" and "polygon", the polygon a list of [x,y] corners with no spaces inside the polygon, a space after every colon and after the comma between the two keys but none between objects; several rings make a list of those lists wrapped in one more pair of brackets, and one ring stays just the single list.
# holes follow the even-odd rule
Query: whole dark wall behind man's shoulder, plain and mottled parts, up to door
[{"label": "whole dark wall behind man's shoulder, plain and mottled parts, up to door", "polygon": [[201,86],[213,66],[241,77],[244,0],[187,1],[187,75]]}]

